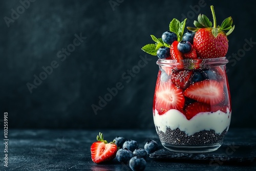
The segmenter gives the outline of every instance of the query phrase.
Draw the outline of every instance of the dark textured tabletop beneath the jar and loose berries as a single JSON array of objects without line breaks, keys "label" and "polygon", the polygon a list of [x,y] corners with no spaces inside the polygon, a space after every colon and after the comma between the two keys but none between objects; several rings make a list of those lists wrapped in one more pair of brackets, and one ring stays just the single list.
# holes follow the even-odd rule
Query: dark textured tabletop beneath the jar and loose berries
[{"label": "dark textured tabletop beneath the jar and loose berries", "polygon": [[[8,167],[4,166],[4,145],[1,143],[0,170],[130,170],[116,159],[106,164],[92,162],[90,146],[99,132],[108,141],[116,136],[134,139],[142,148],[149,139],[159,142],[155,130],[9,130]],[[167,156],[163,157],[160,151],[158,156],[164,159],[147,157],[145,170],[256,170],[255,149],[255,129],[230,129],[223,146],[216,152],[207,153],[212,159],[192,160],[189,155],[184,157],[184,154],[166,151],[163,154]],[[218,155],[224,158],[214,158]],[[240,157],[247,162],[226,162]]]}]

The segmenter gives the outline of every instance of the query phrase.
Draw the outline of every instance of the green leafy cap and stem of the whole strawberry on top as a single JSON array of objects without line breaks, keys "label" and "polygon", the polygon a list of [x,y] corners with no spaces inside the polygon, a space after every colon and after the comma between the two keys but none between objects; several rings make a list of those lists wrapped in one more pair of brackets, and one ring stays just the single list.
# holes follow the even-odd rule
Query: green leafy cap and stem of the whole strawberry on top
[{"label": "green leafy cap and stem of the whole strawberry on top", "polygon": [[[212,28],[212,35],[214,35],[215,37],[218,36],[219,33],[225,33],[227,36],[229,34],[232,33],[232,31],[234,30],[234,25],[232,26],[233,20],[230,17],[227,17],[226,19],[223,20],[221,26],[217,26],[217,22],[216,22],[216,15],[215,15],[215,11],[214,11],[214,6],[210,6],[211,9],[211,13],[212,13],[212,17],[214,19],[214,27],[212,26],[212,23],[210,22],[209,18],[206,15],[198,15],[198,21],[194,21],[194,25],[196,26],[196,28],[194,27],[187,27],[188,30],[190,31],[198,31],[201,28]],[[228,31],[228,32],[225,32]]]}]

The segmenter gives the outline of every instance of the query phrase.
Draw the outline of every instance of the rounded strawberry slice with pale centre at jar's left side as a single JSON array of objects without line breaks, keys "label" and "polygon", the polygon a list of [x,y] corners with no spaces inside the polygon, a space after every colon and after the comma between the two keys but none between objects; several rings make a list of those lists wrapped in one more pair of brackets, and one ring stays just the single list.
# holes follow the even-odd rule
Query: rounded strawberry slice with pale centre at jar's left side
[{"label": "rounded strawberry slice with pale centre at jar's left side", "polygon": [[182,89],[174,86],[172,82],[161,82],[156,92],[155,105],[159,115],[163,115],[170,109],[182,111],[185,98]]}]

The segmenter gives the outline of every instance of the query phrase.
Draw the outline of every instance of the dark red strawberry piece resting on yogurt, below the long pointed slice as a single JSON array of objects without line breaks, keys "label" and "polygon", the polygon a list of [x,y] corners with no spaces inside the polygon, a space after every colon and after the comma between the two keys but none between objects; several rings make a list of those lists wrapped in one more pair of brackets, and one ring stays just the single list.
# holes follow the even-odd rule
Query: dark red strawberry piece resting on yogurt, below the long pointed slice
[{"label": "dark red strawberry piece resting on yogurt, below the long pointed slice", "polygon": [[211,111],[210,105],[200,103],[200,102],[194,102],[186,106],[185,116],[188,120],[190,120],[200,112],[210,112],[210,111]]}]

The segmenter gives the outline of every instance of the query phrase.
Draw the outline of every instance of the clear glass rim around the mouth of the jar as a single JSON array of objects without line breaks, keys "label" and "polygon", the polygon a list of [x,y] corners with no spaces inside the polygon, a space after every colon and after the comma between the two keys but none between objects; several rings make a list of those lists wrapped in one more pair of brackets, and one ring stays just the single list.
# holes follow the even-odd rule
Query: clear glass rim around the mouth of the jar
[{"label": "clear glass rim around the mouth of the jar", "polygon": [[166,65],[191,65],[191,64],[198,64],[202,63],[203,65],[225,65],[228,63],[226,57],[218,57],[218,58],[205,58],[205,59],[182,59],[180,61],[176,59],[158,59],[157,65],[159,66],[166,66]]}]

